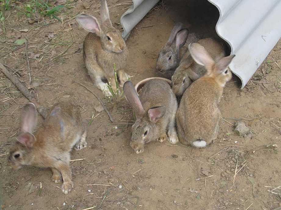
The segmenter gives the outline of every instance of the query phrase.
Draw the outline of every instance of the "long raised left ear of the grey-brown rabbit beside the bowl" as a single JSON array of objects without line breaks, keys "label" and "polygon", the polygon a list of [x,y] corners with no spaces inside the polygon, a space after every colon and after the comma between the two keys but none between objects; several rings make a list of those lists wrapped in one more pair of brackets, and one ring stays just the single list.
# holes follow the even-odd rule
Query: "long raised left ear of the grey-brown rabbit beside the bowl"
[{"label": "long raised left ear of the grey-brown rabbit beside the bowl", "polygon": [[135,91],[134,85],[131,81],[126,81],[123,85],[124,94],[126,100],[131,104],[133,111],[138,116],[143,116],[144,109],[142,107],[142,103],[139,100],[139,96]]}]

